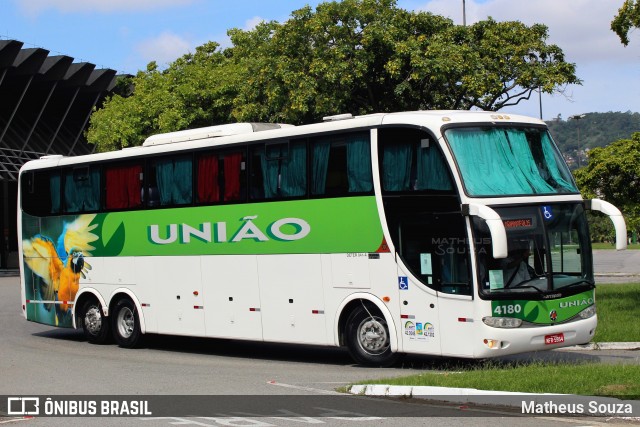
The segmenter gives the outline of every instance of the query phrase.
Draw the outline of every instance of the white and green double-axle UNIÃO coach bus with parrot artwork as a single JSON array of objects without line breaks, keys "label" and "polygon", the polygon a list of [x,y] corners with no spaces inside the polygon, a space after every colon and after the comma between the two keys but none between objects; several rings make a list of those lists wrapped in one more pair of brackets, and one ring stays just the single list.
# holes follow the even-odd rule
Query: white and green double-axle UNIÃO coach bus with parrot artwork
[{"label": "white and green double-axle UNI\u00c3O coach bus with parrot artwork", "polygon": [[586,211],[544,122],[491,112],[239,123],[24,165],[22,310],[144,334],[486,358],[584,344]]}]

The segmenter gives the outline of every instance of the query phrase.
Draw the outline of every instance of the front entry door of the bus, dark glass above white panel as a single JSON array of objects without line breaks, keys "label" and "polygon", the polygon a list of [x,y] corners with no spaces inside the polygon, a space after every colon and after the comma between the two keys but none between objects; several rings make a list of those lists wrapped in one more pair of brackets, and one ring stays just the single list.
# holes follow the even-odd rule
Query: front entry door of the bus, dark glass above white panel
[{"label": "front entry door of the bus, dark glass above white panel", "polygon": [[450,354],[467,346],[471,328],[461,319],[472,319],[473,304],[464,217],[459,212],[405,215],[398,227],[405,351]]}]

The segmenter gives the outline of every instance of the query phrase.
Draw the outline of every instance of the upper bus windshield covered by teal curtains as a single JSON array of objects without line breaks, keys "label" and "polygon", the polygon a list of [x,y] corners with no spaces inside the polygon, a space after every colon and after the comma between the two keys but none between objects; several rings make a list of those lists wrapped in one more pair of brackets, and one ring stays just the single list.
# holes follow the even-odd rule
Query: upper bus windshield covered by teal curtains
[{"label": "upper bus windshield covered by teal curtains", "polygon": [[543,127],[478,126],[444,134],[469,196],[578,193]]}]

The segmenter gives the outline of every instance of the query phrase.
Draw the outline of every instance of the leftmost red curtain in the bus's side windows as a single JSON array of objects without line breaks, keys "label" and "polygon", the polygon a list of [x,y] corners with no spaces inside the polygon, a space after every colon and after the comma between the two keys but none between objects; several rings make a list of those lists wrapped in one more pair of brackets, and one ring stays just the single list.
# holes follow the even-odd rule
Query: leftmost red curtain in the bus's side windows
[{"label": "leftmost red curtain in the bus's side windows", "polygon": [[141,176],[140,165],[108,168],[105,172],[107,209],[126,209],[142,205]]}]

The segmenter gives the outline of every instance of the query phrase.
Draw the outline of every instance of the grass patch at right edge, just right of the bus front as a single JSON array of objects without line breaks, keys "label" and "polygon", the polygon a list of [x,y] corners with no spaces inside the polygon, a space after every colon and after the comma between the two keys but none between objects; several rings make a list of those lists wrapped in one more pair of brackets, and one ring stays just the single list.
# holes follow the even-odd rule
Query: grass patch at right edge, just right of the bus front
[{"label": "grass patch at right edge, just right of the bus front", "polygon": [[640,342],[640,283],[596,287],[594,342]]}]

